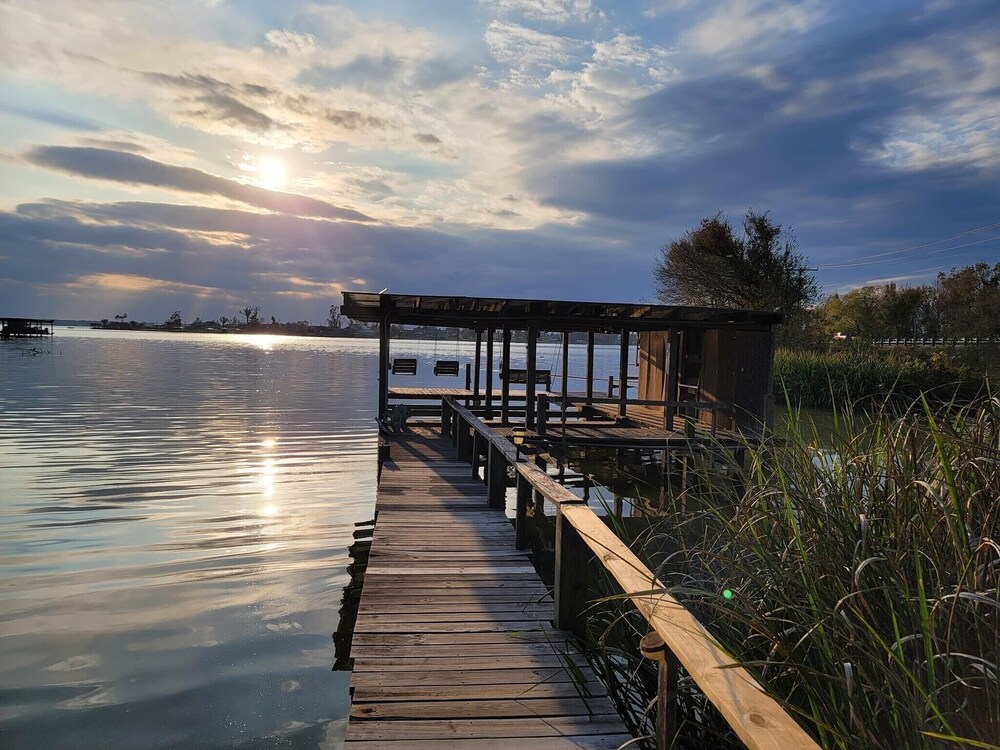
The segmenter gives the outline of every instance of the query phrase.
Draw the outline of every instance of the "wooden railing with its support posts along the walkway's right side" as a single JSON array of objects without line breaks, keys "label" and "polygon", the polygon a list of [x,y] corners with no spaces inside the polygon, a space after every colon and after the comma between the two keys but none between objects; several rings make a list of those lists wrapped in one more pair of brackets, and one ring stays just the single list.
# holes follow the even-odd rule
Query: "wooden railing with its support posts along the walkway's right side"
[{"label": "wooden railing with its support posts along the walkway's right side", "polygon": [[528,546],[527,508],[532,491],[541,493],[556,509],[554,623],[557,628],[581,632],[588,606],[586,570],[588,550],[618,583],[649,623],[642,652],[659,662],[657,744],[665,750],[677,731],[674,690],[677,666],[682,665],[736,735],[754,750],[808,748],[816,742],[769,696],[763,687],[719,645],[711,633],[579,497],[533,462],[520,460],[514,445],[454,399],[444,399],[441,428],[452,439],[460,458],[469,460],[479,475],[486,457],[485,479],[490,507],[504,508],[507,469],[516,472],[515,543]]}]

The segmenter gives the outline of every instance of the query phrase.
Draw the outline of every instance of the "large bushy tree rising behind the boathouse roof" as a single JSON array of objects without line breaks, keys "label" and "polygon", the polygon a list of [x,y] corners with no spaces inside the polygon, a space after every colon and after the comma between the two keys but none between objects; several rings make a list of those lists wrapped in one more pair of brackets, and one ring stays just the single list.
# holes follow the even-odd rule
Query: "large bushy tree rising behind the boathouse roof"
[{"label": "large bushy tree rising behind the boathouse roof", "polygon": [[789,230],[750,209],[737,235],[722,213],[665,245],[653,269],[666,303],[805,315],[816,280]]}]

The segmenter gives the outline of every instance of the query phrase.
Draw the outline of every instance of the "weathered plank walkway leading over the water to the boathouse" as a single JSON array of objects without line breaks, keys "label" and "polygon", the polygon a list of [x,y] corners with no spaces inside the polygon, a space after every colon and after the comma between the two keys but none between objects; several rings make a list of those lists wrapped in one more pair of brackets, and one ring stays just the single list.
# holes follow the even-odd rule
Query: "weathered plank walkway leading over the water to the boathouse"
[{"label": "weathered plank walkway leading over the water to the boathouse", "polygon": [[347,746],[559,750],[631,739],[553,628],[548,592],[469,464],[426,428],[391,450],[354,633]]}]

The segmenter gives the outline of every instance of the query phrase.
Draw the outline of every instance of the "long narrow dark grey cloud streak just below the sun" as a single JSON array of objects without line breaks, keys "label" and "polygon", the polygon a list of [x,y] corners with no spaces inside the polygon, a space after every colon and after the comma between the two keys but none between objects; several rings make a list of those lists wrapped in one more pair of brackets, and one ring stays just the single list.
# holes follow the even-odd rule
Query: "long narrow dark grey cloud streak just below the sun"
[{"label": "long narrow dark grey cloud streak just below the sun", "polygon": [[151,185],[186,193],[219,195],[278,213],[316,216],[325,219],[372,221],[370,217],[358,211],[334,206],[316,198],[265,190],[254,185],[227,180],[224,177],[218,177],[191,167],[176,167],[121,151],[69,146],[36,146],[28,152],[27,159],[38,166],[57,169],[81,177],[125,182],[133,185]]}]

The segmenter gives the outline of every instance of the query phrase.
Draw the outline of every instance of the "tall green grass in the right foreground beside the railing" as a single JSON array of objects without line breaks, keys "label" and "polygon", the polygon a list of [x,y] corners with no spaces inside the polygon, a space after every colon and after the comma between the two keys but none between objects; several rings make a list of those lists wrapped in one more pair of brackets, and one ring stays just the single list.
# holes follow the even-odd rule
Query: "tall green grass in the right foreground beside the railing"
[{"label": "tall green grass in the right foreground beside the railing", "polygon": [[[1000,399],[838,415],[830,450],[790,433],[745,468],[702,455],[693,486],[619,533],[822,746],[1000,746]],[[590,613],[642,734],[645,627],[620,600]],[[739,746],[690,680],[679,701],[678,747]]]}]

